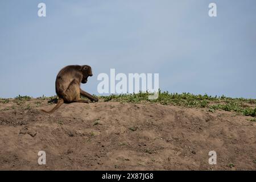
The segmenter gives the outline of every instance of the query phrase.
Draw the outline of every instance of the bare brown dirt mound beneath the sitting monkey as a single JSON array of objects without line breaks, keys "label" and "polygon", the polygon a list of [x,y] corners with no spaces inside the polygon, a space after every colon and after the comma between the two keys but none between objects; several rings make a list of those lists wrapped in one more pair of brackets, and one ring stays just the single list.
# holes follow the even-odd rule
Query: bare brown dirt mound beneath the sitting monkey
[{"label": "bare brown dirt mound beneath the sitting monkey", "polygon": [[[52,107],[0,104],[0,169],[256,169],[256,123],[240,114],[119,102],[39,110]],[[216,165],[208,163],[213,150]]]}]

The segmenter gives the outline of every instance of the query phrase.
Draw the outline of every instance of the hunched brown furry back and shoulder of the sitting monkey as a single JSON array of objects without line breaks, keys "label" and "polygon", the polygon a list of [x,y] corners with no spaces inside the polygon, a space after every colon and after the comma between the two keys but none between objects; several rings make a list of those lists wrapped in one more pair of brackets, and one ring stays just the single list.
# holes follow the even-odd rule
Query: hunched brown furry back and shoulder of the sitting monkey
[{"label": "hunched brown furry back and shoulder of the sitting monkey", "polygon": [[80,68],[80,65],[69,65],[60,70],[55,81],[57,96],[63,97],[63,93],[68,89],[72,81],[77,80],[79,83],[81,82]]}]

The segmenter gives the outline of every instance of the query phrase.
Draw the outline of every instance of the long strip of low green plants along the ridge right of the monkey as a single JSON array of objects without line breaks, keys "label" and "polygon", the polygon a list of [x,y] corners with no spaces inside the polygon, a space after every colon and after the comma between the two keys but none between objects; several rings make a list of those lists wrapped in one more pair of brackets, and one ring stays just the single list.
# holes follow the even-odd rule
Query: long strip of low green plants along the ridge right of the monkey
[{"label": "long strip of low green plants along the ridge right of the monkey", "polygon": [[243,115],[256,116],[256,99],[230,98],[230,97],[212,97],[207,94],[194,95],[191,93],[168,93],[159,90],[159,97],[156,100],[148,100],[150,93],[119,94],[110,96],[100,96],[104,102],[119,101],[133,103],[159,103],[162,105],[175,105],[184,107],[208,108],[208,111],[214,113],[216,110],[235,111]]}]

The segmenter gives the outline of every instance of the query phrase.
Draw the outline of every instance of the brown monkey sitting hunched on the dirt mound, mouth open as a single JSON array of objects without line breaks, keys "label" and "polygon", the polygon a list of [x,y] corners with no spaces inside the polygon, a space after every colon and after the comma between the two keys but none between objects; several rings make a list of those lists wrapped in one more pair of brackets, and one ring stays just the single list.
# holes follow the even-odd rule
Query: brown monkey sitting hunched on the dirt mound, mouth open
[{"label": "brown monkey sitting hunched on the dirt mound, mouth open", "polygon": [[59,97],[57,105],[50,111],[43,109],[42,111],[53,113],[63,103],[88,103],[86,100],[81,100],[80,94],[89,98],[90,101],[97,102],[98,98],[93,97],[91,94],[80,88],[80,84],[85,84],[89,76],[93,76],[92,68],[90,68],[89,65],[69,65],[61,69],[55,81],[56,94]]}]

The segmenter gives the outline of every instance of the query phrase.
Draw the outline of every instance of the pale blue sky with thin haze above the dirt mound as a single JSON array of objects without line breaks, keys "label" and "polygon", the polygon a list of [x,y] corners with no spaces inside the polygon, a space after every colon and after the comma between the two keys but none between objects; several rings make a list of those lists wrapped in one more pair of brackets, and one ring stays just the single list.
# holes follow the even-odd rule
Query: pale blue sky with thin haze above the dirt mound
[{"label": "pale blue sky with thin haze above the dirt mound", "polygon": [[[47,16],[38,17],[46,3]],[[217,4],[217,17],[208,5]],[[0,1],[0,97],[55,95],[65,65],[159,73],[168,92],[256,98],[255,0]]]}]

